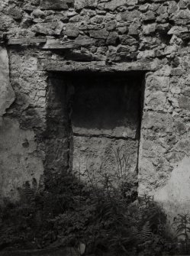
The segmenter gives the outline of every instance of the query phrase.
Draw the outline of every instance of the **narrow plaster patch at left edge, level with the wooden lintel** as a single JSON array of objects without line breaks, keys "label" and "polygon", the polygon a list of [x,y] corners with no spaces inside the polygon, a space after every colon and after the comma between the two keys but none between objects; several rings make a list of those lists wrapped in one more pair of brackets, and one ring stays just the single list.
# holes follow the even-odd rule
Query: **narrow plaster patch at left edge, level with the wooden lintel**
[{"label": "narrow plaster patch at left edge, level with the wooden lintel", "polygon": [[0,47],[0,117],[14,102],[14,91],[9,82],[8,53]]}]

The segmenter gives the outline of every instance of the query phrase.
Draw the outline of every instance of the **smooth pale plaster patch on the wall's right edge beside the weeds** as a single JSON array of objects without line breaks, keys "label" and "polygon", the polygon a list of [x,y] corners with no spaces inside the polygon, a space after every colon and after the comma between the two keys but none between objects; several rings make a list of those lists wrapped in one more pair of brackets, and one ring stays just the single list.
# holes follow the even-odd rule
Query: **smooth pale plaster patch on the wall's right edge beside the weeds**
[{"label": "smooth pale plaster patch on the wall's right edge beside the weeds", "polygon": [[154,199],[170,216],[190,212],[190,157],[185,157],[172,171],[166,186],[156,191]]}]

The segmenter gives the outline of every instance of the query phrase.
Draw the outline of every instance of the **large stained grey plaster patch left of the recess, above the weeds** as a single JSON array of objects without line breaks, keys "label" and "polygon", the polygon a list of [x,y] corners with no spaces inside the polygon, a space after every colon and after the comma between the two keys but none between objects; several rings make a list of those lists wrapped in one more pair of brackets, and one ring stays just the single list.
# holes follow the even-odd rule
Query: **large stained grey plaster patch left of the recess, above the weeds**
[{"label": "large stained grey plaster patch left of the recess, above the weeds", "polygon": [[0,198],[18,198],[18,187],[33,179],[39,183],[43,163],[36,154],[34,131],[21,130],[15,119],[0,123]]}]

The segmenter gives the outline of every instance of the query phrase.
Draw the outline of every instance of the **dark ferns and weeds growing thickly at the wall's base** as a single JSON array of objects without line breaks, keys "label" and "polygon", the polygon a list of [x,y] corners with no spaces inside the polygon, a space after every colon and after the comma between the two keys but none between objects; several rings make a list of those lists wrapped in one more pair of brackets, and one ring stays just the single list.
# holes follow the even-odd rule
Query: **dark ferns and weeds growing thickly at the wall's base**
[{"label": "dark ferns and weeds growing thickly at the wall's base", "polygon": [[48,190],[37,190],[35,180],[25,183],[20,200],[5,200],[1,208],[0,249],[77,248],[83,243],[86,255],[176,254],[162,208],[151,196],[134,199],[132,182],[118,179],[115,186],[115,179],[103,173],[100,180],[83,183],[64,173]]}]

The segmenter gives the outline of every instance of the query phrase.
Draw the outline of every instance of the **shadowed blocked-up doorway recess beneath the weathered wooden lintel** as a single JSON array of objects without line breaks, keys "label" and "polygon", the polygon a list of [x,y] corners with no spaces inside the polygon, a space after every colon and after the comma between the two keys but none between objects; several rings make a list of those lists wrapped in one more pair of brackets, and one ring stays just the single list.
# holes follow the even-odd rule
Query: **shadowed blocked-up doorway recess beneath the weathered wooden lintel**
[{"label": "shadowed blocked-up doorway recess beneath the weathered wooden lintel", "polygon": [[46,173],[86,169],[137,179],[144,72],[50,73]]}]

